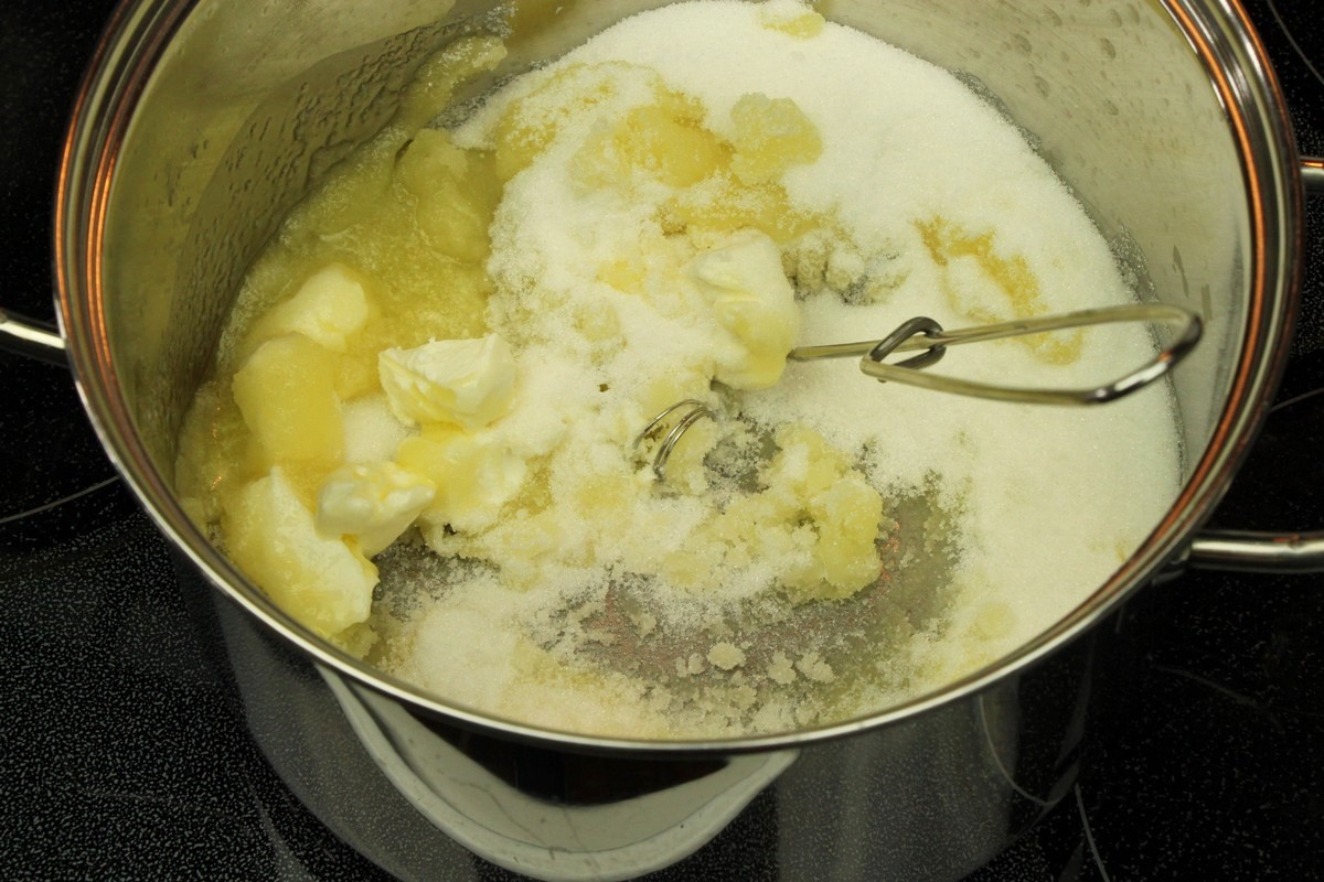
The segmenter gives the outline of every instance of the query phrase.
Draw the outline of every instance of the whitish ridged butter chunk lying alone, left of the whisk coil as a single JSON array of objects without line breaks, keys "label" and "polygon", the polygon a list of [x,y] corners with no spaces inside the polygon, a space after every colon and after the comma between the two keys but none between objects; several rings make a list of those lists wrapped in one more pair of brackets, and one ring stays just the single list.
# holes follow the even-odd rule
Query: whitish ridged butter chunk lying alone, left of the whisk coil
[{"label": "whitish ridged butter chunk lying alone, left of the whisk coil", "polygon": [[515,391],[515,357],[496,335],[387,349],[377,369],[391,410],[406,426],[475,431],[503,417]]}]

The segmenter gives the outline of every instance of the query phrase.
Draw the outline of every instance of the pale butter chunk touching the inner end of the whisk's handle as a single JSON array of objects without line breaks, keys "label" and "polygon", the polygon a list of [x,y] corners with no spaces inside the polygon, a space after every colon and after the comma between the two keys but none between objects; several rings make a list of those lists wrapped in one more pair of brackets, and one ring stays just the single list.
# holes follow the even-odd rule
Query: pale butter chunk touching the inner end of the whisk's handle
[{"label": "pale butter chunk touching the inner end of the whisk's handle", "polygon": [[700,254],[691,270],[722,327],[743,350],[719,364],[716,378],[735,389],[776,383],[800,333],[796,292],[782,272],[777,246],[768,235],[745,230]]}]

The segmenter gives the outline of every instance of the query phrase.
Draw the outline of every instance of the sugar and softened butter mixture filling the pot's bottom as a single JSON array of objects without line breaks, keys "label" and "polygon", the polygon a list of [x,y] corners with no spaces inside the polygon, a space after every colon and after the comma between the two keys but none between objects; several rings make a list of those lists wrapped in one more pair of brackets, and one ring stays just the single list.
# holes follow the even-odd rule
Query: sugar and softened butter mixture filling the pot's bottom
[{"label": "sugar and softened butter mixture filling the pot's bottom", "polygon": [[[503,181],[490,251],[454,258],[491,282],[477,332],[372,331],[363,378],[354,335],[391,317],[363,257],[381,246],[320,270],[334,295],[306,295],[312,274],[285,303],[314,305],[277,307],[240,346],[233,395],[265,450],[294,450],[254,390],[281,358],[348,352],[318,368],[335,444],[299,447],[311,472],[261,459],[200,518],[312,627],[448,701],[639,737],[866,713],[1051,625],[1176,492],[1161,389],[1045,409],[785,364],[916,315],[957,328],[1131,299],[1071,194],[943,70],[793,0],[682,3],[409,149],[429,139],[437,180],[477,156]],[[1092,385],[1151,352],[1111,327],[939,369]],[[632,440],[683,398],[719,419],[658,483]]]}]

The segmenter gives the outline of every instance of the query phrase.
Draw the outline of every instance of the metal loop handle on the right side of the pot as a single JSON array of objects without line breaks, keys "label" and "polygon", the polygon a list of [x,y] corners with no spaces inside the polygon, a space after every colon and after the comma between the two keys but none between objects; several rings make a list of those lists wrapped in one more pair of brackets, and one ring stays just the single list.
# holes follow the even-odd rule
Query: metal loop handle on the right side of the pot
[{"label": "metal loop handle on the right side of the pot", "polygon": [[[1301,184],[1307,194],[1324,196],[1324,159],[1301,157]],[[1206,570],[1241,573],[1324,571],[1324,530],[1204,530],[1190,543],[1185,563]]]}]

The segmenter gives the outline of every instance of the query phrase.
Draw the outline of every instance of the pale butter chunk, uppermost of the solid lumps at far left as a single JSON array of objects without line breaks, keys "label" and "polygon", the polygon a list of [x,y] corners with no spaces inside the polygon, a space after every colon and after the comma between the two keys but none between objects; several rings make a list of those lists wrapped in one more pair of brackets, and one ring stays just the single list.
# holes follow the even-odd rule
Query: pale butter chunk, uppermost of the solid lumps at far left
[{"label": "pale butter chunk, uppermost of the solid lumps at far left", "polygon": [[369,311],[363,280],[350,267],[332,263],[308,276],[293,298],[266,313],[250,339],[269,340],[297,332],[331,352],[344,352]]}]

